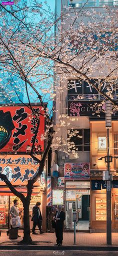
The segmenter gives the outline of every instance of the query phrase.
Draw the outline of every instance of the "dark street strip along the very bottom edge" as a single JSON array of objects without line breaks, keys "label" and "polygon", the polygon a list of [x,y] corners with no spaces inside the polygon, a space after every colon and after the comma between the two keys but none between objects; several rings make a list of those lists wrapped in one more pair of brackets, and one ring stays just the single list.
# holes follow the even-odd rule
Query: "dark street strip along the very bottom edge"
[{"label": "dark street strip along the very bottom edge", "polygon": [[35,253],[35,256],[59,256],[59,255],[64,255],[64,256],[99,256],[99,255],[103,255],[103,256],[117,256],[117,251],[80,251],[80,250],[76,250],[76,251],[61,251],[61,250],[46,250],[46,251],[30,251],[30,250],[0,250],[0,255],[2,256],[33,256]]}]

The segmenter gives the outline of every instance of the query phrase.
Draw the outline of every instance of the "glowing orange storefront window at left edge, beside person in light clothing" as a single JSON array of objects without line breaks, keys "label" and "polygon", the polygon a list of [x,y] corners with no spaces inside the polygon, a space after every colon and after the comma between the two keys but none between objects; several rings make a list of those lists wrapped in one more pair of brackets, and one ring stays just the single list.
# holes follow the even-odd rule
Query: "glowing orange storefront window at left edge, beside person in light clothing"
[{"label": "glowing orange storefront window at left edge, beside person in light clothing", "polygon": [[0,196],[0,227],[8,225],[8,196]]}]

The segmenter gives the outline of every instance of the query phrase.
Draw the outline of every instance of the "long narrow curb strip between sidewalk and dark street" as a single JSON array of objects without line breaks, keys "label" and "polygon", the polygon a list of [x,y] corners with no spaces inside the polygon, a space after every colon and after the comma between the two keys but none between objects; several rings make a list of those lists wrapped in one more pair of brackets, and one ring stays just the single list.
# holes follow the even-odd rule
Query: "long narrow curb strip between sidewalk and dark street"
[{"label": "long narrow curb strip between sidewalk and dark street", "polygon": [[88,250],[88,251],[118,251],[117,246],[39,246],[39,245],[0,245],[0,250]]}]

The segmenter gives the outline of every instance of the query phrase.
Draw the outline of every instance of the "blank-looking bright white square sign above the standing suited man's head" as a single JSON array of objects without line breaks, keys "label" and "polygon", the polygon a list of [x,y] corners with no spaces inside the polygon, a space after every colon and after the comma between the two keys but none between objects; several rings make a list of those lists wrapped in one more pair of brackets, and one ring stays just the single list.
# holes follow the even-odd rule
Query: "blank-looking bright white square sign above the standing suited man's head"
[{"label": "blank-looking bright white square sign above the standing suited man's head", "polygon": [[63,190],[52,190],[52,205],[63,204]]}]

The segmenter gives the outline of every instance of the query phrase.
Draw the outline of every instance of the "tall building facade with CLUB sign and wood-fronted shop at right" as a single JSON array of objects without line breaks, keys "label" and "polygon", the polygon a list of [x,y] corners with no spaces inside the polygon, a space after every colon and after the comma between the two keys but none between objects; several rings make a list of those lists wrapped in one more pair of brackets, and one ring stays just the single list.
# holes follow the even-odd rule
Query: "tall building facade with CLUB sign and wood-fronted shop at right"
[{"label": "tall building facade with CLUB sign and wood-fronted shop at right", "polygon": [[[55,1],[55,12],[64,10],[65,6],[80,11],[85,1]],[[88,1],[84,8],[103,5],[117,5],[117,2]],[[58,6],[59,5],[59,6]],[[73,10],[73,9],[72,9]],[[97,9],[95,9],[97,10]],[[98,9],[99,10],[99,9]],[[67,26],[66,21],[65,26]],[[57,33],[55,29],[55,33]],[[96,73],[93,79],[102,79],[101,74]],[[89,85],[85,80],[77,79],[69,75],[68,79],[58,79],[63,91],[56,91],[56,106],[54,114],[54,127],[58,129],[56,136],[67,142],[70,133],[77,131],[77,135],[71,136],[70,142],[74,142],[74,150],[77,158],[72,154],[72,149],[67,154],[57,148],[52,150],[51,190],[50,205],[53,209],[57,204],[63,204],[66,213],[65,229],[73,229],[72,212],[77,212],[76,230],[88,230],[90,232],[105,230],[106,228],[106,181],[102,180],[103,171],[106,170],[105,156],[106,129],[104,105],[100,102],[103,96]],[[56,79],[57,82],[57,79]],[[102,91],[105,92],[103,85]],[[117,99],[117,90],[113,92],[113,99]],[[97,103],[97,104],[96,104]],[[59,115],[67,115],[67,122],[61,126]],[[64,120],[64,117],[63,117]],[[117,112],[112,114],[112,128],[110,129],[110,155],[117,155]],[[66,147],[66,146],[65,146]],[[110,164],[112,174],[112,229],[117,230],[117,160]]]}]

